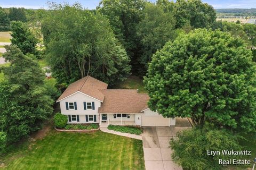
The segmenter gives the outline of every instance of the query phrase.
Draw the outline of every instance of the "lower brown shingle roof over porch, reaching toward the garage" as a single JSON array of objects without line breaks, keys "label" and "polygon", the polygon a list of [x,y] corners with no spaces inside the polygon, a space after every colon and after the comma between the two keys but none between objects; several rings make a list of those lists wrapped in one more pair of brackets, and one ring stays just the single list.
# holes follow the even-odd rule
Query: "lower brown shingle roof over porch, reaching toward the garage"
[{"label": "lower brown shingle roof over porch, reaching toward the garage", "polygon": [[105,95],[98,113],[141,113],[149,96],[138,94],[137,89],[100,90]]}]

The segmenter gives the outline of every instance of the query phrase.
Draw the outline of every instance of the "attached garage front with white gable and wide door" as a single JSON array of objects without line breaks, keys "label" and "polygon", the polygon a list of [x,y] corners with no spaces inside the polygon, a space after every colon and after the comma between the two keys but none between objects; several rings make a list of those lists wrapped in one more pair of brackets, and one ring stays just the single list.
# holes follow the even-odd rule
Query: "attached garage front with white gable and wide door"
[{"label": "attached garage front with white gable and wide door", "polygon": [[170,126],[172,122],[173,120],[170,118],[164,118],[162,115],[150,111],[150,109],[146,109],[141,115],[141,126]]}]

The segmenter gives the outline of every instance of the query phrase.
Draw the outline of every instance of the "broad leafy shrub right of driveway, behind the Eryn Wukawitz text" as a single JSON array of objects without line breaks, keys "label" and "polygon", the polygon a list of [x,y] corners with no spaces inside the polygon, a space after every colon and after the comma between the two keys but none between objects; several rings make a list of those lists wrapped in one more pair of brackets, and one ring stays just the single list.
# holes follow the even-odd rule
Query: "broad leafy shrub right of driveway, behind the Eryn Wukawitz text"
[{"label": "broad leafy shrub right of driveway, behind the Eryn Wukawitz text", "polygon": [[[170,141],[172,158],[183,169],[221,169],[219,159],[239,159],[241,156],[222,155],[222,150],[241,150],[238,136],[224,130],[193,128],[177,133]],[[220,155],[207,155],[207,150],[220,151]],[[243,158],[245,159],[245,158]]]}]

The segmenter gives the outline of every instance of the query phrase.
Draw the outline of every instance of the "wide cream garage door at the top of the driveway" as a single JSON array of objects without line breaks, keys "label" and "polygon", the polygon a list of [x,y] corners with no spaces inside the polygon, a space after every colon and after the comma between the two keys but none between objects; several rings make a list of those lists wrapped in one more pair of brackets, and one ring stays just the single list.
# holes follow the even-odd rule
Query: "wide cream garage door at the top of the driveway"
[{"label": "wide cream garage door at the top of the driveway", "polygon": [[170,118],[164,118],[162,115],[141,116],[142,126],[169,126]]}]

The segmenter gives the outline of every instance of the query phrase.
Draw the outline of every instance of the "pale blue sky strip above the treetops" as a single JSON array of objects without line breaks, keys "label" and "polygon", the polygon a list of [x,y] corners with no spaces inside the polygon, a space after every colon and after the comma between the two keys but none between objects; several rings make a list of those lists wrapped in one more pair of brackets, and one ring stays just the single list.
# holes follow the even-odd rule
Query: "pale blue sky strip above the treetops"
[{"label": "pale blue sky strip above the treetops", "polygon": [[[0,0],[1,7],[25,7],[25,8],[47,8],[47,1],[49,0]],[[155,2],[156,0],[150,0]],[[100,0],[52,0],[51,2],[81,3],[85,8],[95,9],[99,5]],[[214,8],[256,8],[256,0],[203,0],[204,3],[212,5]]]}]

